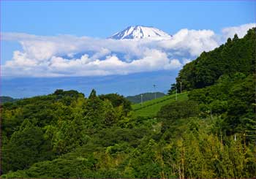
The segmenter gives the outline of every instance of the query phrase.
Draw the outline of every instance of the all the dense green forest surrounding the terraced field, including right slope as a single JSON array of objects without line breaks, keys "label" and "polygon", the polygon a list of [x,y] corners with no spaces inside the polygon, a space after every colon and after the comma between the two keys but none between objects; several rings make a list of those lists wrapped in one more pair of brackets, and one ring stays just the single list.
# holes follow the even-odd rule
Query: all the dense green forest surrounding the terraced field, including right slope
[{"label": "all the dense green forest surrounding the terraced field, including right slope", "polygon": [[148,118],[94,90],[1,104],[1,178],[256,178],[255,30],[185,65],[188,99]]}]

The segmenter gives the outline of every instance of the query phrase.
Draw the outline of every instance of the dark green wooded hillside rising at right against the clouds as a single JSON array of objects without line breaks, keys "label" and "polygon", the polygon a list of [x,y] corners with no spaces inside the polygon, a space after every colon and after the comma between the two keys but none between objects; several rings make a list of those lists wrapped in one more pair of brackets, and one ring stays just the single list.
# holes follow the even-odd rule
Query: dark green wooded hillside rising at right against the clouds
[{"label": "dark green wooded hillside rising at right against the clouds", "polygon": [[[253,28],[242,39],[235,35],[233,39],[227,39],[225,45],[211,52],[201,53],[195,61],[181,69],[176,82],[181,82],[184,90],[192,90],[213,85],[222,75],[232,76],[237,72],[250,75],[255,72],[255,47]],[[179,87],[179,84],[177,86]]]}]

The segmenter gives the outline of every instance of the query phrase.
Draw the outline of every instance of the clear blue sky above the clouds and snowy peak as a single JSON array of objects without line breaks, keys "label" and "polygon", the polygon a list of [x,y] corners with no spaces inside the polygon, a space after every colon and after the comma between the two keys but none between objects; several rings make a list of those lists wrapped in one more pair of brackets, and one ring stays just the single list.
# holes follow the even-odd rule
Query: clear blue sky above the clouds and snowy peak
[{"label": "clear blue sky above the clouds and snowy peak", "polygon": [[255,21],[255,1],[1,1],[1,31],[108,37],[130,25],[211,29]]}]

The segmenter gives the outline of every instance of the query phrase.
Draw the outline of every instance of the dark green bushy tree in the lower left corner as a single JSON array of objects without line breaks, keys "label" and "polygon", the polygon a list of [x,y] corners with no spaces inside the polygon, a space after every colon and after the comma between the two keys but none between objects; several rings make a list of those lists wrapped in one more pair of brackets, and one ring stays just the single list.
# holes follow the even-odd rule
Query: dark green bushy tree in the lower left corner
[{"label": "dark green bushy tree in the lower left corner", "polygon": [[52,156],[50,143],[44,139],[42,129],[27,119],[2,149],[2,172],[23,170]]}]

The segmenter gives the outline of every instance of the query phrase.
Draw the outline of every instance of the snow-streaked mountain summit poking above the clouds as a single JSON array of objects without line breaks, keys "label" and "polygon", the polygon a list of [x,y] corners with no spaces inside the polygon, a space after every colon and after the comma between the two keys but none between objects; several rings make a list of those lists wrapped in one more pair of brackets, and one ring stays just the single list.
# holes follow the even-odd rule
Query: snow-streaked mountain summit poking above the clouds
[{"label": "snow-streaked mountain summit poking above the clouds", "polygon": [[110,39],[162,39],[171,36],[164,31],[147,26],[129,26],[110,36]]}]

